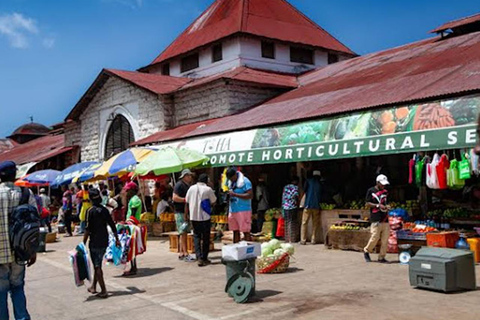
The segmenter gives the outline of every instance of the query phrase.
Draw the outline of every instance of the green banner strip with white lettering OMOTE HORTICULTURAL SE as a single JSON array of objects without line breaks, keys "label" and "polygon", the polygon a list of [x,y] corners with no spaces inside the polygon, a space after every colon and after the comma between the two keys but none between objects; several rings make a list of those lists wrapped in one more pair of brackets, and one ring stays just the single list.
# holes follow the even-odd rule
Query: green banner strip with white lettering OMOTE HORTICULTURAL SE
[{"label": "green banner strip with white lettering OMOTE HORTICULTURAL SE", "polygon": [[469,148],[476,143],[476,125],[405,132],[343,141],[269,147],[210,155],[212,166],[319,161],[424,150]]}]

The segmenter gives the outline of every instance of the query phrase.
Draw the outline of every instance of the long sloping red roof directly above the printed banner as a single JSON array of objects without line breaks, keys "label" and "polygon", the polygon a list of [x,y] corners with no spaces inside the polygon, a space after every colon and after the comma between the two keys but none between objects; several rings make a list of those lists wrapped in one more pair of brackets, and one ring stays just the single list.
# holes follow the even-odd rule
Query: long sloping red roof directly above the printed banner
[{"label": "long sloping red roof directly above the printed banner", "polygon": [[137,141],[151,144],[366,108],[480,92],[480,32],[349,59],[299,77],[300,87],[243,113]]}]

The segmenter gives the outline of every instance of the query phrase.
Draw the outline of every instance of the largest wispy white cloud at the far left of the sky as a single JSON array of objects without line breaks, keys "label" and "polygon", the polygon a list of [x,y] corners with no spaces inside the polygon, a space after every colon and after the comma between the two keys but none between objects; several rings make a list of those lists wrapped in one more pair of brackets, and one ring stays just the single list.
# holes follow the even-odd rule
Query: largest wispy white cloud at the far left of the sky
[{"label": "largest wispy white cloud at the far left of the sky", "polygon": [[14,48],[28,48],[28,36],[38,33],[37,22],[21,13],[0,15],[0,35],[5,36]]}]

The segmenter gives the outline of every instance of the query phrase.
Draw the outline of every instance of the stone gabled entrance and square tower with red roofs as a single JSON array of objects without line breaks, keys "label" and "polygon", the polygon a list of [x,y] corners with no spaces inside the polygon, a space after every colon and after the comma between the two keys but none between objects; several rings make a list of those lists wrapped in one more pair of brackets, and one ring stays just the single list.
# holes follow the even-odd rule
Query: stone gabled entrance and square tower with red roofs
[{"label": "stone gabled entrance and square tower with red roofs", "polygon": [[217,0],[150,65],[102,70],[66,118],[66,144],[82,161],[107,159],[159,131],[248,110],[354,56],[284,0]]}]

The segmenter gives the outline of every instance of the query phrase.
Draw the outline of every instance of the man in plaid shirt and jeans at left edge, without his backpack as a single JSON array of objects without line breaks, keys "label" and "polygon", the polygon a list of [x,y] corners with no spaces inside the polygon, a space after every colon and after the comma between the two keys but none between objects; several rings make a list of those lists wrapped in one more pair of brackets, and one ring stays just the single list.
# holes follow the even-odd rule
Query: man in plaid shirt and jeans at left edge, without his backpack
[{"label": "man in plaid shirt and jeans at left edge, without his backpack", "polygon": [[[25,297],[25,266],[17,264],[10,247],[8,234],[9,216],[20,203],[22,190],[13,183],[17,167],[12,161],[0,163],[0,318],[8,319],[8,293],[12,297],[12,305],[16,319],[30,319]],[[28,203],[37,207],[32,193]],[[36,256],[27,261],[27,266],[35,263]]]}]

